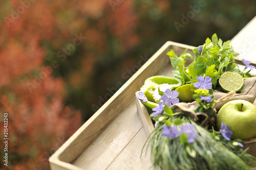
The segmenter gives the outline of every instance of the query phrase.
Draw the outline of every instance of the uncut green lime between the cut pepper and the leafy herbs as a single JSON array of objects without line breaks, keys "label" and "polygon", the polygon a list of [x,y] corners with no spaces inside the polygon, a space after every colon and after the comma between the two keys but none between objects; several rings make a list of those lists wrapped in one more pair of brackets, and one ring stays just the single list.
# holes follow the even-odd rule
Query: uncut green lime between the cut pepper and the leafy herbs
[{"label": "uncut green lime between the cut pepper and the leafy herbs", "polygon": [[195,94],[194,90],[196,89],[194,84],[185,84],[176,88],[175,91],[179,92],[178,98],[181,102],[192,102],[194,101],[193,95]]}]

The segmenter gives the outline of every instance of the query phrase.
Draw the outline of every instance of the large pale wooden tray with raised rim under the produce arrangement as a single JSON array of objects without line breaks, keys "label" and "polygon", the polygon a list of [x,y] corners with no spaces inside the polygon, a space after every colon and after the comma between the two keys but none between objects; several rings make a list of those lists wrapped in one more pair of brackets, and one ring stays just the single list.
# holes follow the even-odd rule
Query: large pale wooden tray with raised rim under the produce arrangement
[{"label": "large pale wooden tray with raised rim under the produce arrangement", "polygon": [[[173,49],[180,55],[186,48],[188,53],[193,54],[193,46],[167,41],[50,157],[51,169],[151,168],[150,155],[140,157],[140,152],[154,127],[145,111],[141,112],[145,115],[137,114],[134,94],[148,77],[173,76],[166,53]],[[140,105],[138,101],[137,105]]]}]

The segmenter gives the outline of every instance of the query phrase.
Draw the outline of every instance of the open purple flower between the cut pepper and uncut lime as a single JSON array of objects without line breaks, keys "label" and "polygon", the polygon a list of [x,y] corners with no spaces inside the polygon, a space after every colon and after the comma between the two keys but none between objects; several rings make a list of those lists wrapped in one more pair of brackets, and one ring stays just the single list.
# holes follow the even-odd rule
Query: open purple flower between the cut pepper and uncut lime
[{"label": "open purple flower between the cut pepper and uncut lime", "polygon": [[180,100],[177,98],[179,92],[175,90],[170,91],[170,89],[168,88],[167,90],[165,90],[164,94],[165,95],[161,96],[161,99],[163,100],[164,104],[166,104],[168,107],[180,102]]}]

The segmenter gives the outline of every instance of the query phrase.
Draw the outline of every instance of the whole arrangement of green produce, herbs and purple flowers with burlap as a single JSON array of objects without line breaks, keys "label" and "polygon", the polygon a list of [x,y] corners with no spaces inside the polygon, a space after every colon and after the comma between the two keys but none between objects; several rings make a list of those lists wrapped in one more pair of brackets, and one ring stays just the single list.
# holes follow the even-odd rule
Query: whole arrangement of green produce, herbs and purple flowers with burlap
[{"label": "whole arrangement of green produce, herbs and purple flowers with burlap", "polygon": [[[155,129],[148,137],[154,166],[161,169],[251,169],[256,158],[244,141],[256,137],[256,107],[244,93],[256,93],[255,67],[241,71],[230,41],[217,35],[196,47],[167,55],[175,78],[145,80],[137,98],[147,108]],[[185,67],[186,58],[193,60]],[[248,69],[247,72],[245,72]],[[240,95],[241,94],[241,95]],[[254,96],[254,97],[253,97]],[[248,102],[249,101],[249,102]]]}]

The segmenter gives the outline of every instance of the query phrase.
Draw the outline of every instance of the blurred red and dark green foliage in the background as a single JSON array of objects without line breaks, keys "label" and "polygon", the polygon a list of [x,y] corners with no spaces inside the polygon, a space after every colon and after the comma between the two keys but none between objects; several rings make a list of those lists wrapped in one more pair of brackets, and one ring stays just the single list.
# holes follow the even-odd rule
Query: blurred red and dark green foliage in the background
[{"label": "blurred red and dark green foliage in the background", "polygon": [[[2,1],[0,109],[8,113],[9,169],[49,169],[50,155],[102,105],[106,87],[127,80],[122,74],[140,55],[168,40],[231,39],[256,14],[248,0],[209,1],[177,32],[174,22],[190,5],[197,2]],[[3,161],[0,167],[7,169]]]}]

